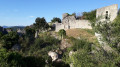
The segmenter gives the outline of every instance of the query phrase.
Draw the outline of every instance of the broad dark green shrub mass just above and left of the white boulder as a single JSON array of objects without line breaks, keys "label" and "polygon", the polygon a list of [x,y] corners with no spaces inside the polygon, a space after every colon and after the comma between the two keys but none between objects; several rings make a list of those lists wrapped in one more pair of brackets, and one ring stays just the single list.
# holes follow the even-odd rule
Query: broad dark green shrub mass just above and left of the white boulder
[{"label": "broad dark green shrub mass just above and left of the white boulder", "polygon": [[32,56],[43,56],[45,59],[48,59],[48,52],[51,50],[56,50],[59,47],[60,41],[49,35],[40,36],[35,40],[35,43],[31,45],[28,55]]}]

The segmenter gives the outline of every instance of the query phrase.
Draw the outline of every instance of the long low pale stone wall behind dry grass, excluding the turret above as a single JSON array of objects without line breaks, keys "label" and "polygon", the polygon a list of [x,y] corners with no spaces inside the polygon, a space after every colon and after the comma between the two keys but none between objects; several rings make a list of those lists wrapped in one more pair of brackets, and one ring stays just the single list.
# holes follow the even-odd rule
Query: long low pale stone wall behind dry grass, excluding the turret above
[{"label": "long low pale stone wall behind dry grass, excluding the turret above", "polygon": [[82,28],[82,29],[92,29],[90,22],[88,20],[72,20],[66,23],[56,23],[55,31],[58,32],[60,29],[74,29],[74,28]]}]

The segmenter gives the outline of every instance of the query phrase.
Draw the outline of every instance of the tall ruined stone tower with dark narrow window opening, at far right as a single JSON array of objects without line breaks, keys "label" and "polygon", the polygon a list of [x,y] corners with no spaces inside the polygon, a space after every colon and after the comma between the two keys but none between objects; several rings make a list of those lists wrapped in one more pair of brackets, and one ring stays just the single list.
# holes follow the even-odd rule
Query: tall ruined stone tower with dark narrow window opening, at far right
[{"label": "tall ruined stone tower with dark narrow window opening, at far right", "polygon": [[113,21],[117,17],[117,14],[118,14],[118,5],[114,4],[97,9],[96,18],[100,17],[101,21],[104,21],[106,19]]}]

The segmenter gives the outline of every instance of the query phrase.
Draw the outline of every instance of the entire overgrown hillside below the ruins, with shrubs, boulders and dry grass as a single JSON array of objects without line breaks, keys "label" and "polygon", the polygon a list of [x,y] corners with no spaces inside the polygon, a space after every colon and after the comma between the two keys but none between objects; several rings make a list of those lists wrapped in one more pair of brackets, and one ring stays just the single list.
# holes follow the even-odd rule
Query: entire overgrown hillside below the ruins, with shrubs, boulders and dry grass
[{"label": "entire overgrown hillside below the ruins, with shrubs, boulders and dry grass", "polygon": [[[94,21],[95,12],[84,16]],[[38,17],[24,28],[24,34],[0,32],[0,67],[120,67],[120,13],[113,23],[107,22],[93,22],[92,30],[55,32],[44,17]],[[98,43],[95,32],[101,34],[103,44]]]}]

